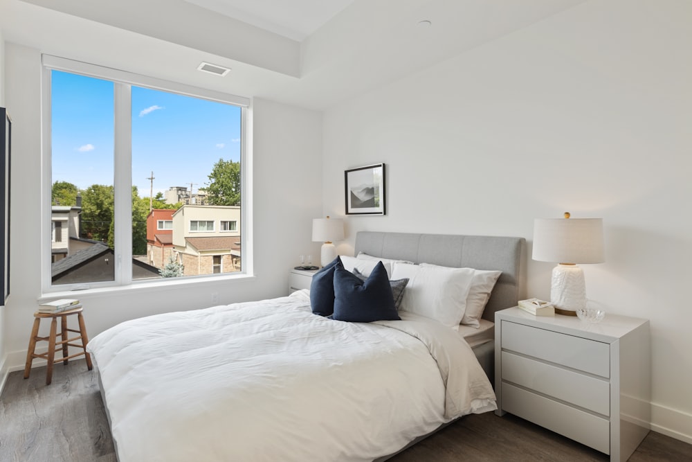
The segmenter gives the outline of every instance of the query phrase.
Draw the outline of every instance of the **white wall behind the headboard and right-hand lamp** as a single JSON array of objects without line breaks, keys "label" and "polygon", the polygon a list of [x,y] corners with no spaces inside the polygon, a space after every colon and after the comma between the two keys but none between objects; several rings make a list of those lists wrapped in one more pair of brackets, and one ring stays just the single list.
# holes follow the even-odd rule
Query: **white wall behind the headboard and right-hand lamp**
[{"label": "white wall behind the headboard and right-hand lamp", "polygon": [[[692,3],[592,1],[325,112],[324,213],[343,171],[387,164],[388,215],[356,231],[522,236],[603,217],[588,296],[650,319],[653,429],[692,443]],[[434,25],[433,25],[434,27]],[[549,298],[554,265],[529,261]]]}]

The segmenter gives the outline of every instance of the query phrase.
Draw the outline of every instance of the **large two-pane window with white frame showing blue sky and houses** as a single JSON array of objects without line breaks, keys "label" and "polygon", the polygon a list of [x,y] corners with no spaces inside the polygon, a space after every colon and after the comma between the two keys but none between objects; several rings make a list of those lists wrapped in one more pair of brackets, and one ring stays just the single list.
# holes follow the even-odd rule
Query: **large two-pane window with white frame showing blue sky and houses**
[{"label": "large two-pane window with white frame showing blue sky and houses", "polygon": [[[52,224],[53,241],[79,240],[60,268],[51,265],[51,246],[42,244],[44,291],[180,277],[183,265],[185,276],[197,276],[194,269],[208,258],[203,249],[212,245],[203,240],[212,238],[190,243],[188,233],[214,231],[230,208],[242,217],[233,230],[246,220],[249,100],[48,55],[44,69],[44,181],[51,186],[44,201],[70,206],[78,217],[67,229]],[[180,194],[189,200],[181,202]],[[156,233],[164,230],[170,232]],[[247,249],[233,251],[245,257]],[[214,265],[219,273],[244,271],[248,260],[241,260],[228,271],[221,260]]]}]

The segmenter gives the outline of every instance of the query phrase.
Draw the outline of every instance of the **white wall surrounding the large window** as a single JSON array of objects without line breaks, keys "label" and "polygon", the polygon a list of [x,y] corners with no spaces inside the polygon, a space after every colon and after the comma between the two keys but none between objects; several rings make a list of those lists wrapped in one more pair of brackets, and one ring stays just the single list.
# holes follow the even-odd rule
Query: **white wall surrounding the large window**
[{"label": "white wall surrounding the large window", "polygon": [[[12,299],[6,306],[10,368],[22,368],[33,312],[41,295],[39,177],[41,164],[40,52],[6,46],[7,103],[12,110]],[[174,79],[172,79],[174,80]],[[311,220],[320,216],[316,179],[321,172],[322,114],[267,100],[254,100],[253,211],[255,278],[178,287],[105,293],[79,292],[89,335],[120,321],[159,312],[265,299],[288,293],[289,269],[298,254],[319,249],[310,241]],[[21,218],[21,220],[20,220]],[[21,226],[19,226],[21,224]]]}]

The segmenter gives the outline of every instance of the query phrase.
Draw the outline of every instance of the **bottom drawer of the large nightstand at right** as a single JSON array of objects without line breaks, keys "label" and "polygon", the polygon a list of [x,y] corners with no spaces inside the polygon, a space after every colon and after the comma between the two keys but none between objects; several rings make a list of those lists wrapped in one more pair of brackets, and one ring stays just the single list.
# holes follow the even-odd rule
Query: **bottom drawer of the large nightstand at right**
[{"label": "bottom drawer of the large nightstand at right", "polygon": [[[504,377],[503,377],[504,378]],[[502,409],[610,454],[610,421],[502,383]]]}]

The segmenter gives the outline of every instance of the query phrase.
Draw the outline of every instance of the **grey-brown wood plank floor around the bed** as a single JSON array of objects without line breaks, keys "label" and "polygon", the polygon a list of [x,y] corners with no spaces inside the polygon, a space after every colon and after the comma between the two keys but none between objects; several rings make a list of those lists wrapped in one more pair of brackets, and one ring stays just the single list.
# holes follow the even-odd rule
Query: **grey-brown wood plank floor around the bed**
[{"label": "grey-brown wood plank floor around the bed", "polygon": [[[1,462],[116,461],[96,375],[84,359],[56,364],[48,387],[45,367],[27,380],[22,375],[11,373],[0,396]],[[390,461],[583,462],[608,456],[509,414],[487,413],[466,416]],[[692,445],[650,432],[630,458],[644,461],[692,461]]]}]

